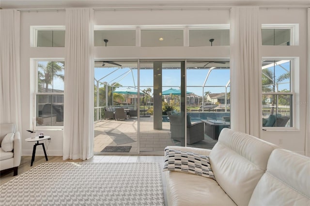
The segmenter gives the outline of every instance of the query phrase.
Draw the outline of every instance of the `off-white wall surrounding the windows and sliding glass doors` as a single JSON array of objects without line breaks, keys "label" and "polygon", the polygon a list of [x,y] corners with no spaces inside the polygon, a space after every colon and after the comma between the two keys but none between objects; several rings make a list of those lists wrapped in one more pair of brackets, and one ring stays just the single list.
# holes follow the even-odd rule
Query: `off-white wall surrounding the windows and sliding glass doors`
[{"label": "off-white wall surrounding the windows and sliding glass doors", "polygon": [[[261,10],[262,23],[299,23],[300,44],[294,46],[291,57],[300,57],[300,101],[306,101],[306,9],[268,9]],[[210,10],[95,10],[95,25],[118,26],[147,26],[147,25],[183,25],[198,24],[229,24],[230,11],[228,9]],[[30,47],[30,26],[37,25],[65,25],[65,11],[31,11],[21,12],[21,92],[22,92],[22,139],[29,137],[27,129],[31,127],[32,101],[30,68],[31,58],[64,58],[64,48]],[[281,47],[283,50],[286,47]],[[263,47],[264,56],[274,56],[273,47]],[[281,53],[278,53],[281,55]],[[204,47],[96,47],[95,58],[106,59],[200,59],[200,58],[229,58],[229,46]],[[233,72],[233,71],[231,71]],[[309,91],[308,91],[309,92]],[[261,137],[281,147],[304,152],[305,142],[305,106],[300,106],[300,130],[294,132],[261,133]],[[259,123],[258,123],[259,124]],[[49,155],[62,155],[63,132],[43,131],[52,137],[48,147]],[[32,143],[23,141],[23,155],[31,155]],[[38,149],[38,155],[43,152]]]}]

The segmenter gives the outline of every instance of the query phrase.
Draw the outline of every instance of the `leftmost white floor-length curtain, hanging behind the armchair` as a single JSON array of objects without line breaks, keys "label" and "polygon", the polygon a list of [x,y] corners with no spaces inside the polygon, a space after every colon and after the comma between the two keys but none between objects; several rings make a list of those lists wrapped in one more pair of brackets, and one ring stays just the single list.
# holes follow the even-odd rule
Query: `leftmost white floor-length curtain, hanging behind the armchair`
[{"label": "leftmost white floor-length curtain, hanging behind the armchair", "polygon": [[0,123],[21,132],[20,13],[0,10]]}]

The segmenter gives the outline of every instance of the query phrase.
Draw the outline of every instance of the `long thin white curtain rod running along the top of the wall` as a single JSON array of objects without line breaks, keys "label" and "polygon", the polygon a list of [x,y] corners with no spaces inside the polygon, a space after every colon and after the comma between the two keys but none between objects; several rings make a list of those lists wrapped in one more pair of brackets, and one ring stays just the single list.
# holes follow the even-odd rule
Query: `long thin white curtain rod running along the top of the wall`
[{"label": "long thin white curtain rod running along the top of the wall", "polygon": [[[253,5],[255,7],[255,5]],[[230,7],[212,7],[212,6],[207,6],[207,7],[124,7],[124,8],[93,8],[93,10],[209,10],[209,9],[231,9],[233,7],[253,7],[251,5],[249,6],[230,6]],[[310,8],[310,6],[258,6],[261,9],[264,8]],[[75,8],[75,7],[68,7],[68,8]],[[82,8],[82,7],[77,7],[77,8]],[[84,7],[83,7],[84,8]],[[86,7],[87,8],[87,7]],[[92,8],[92,7],[89,7]],[[21,12],[31,12],[31,11],[65,11],[66,8],[27,8],[27,9],[16,9],[17,11]]]}]

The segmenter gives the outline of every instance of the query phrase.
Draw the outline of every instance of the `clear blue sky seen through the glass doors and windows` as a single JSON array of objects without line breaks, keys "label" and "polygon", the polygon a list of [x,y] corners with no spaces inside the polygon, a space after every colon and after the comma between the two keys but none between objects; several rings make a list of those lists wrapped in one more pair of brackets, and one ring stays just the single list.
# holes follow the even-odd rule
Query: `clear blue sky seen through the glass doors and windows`
[{"label": "clear blue sky seen through the glass doors and windows", "polygon": [[[47,64],[47,61],[39,62],[43,65]],[[284,68],[284,69],[283,69]],[[276,75],[275,78],[281,74],[290,70],[290,63],[286,62],[280,66],[271,67]],[[208,74],[209,69],[187,69],[186,70],[186,85],[187,91],[193,92],[196,95],[202,96],[202,85],[205,81],[205,78]],[[113,72],[113,73],[112,73]],[[112,73],[112,74],[111,74]],[[109,74],[109,75],[108,75]],[[105,78],[101,79],[102,77]],[[118,82],[123,85],[124,88],[128,87],[138,87],[138,71],[133,69],[132,72],[130,68],[124,67],[118,69],[118,67],[110,68],[94,68],[94,77],[95,79],[101,79],[100,82],[108,82],[111,85],[114,82]],[[214,69],[210,73],[204,88],[205,91],[211,91],[211,93],[221,93],[225,92],[225,85],[230,80],[230,69]],[[284,82],[289,82],[285,80]],[[96,84],[96,82],[94,82]],[[162,86],[163,90],[169,88],[179,89],[181,86],[181,70],[180,69],[163,69],[162,71]],[[220,87],[216,87],[220,86]],[[54,78],[53,88],[63,90],[63,82],[58,78]],[[102,85],[100,87],[103,87]],[[153,69],[141,69],[140,70],[140,89],[152,88],[153,93]],[[290,88],[290,84],[279,84],[279,91],[283,89]],[[120,88],[121,89],[121,88]],[[230,91],[228,87],[227,92]]]}]

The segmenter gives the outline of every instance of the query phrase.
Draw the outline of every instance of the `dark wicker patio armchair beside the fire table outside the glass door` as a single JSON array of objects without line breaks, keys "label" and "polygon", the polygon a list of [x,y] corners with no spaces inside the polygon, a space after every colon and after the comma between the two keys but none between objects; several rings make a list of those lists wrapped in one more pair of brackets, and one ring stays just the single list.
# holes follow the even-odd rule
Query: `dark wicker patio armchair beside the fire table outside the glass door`
[{"label": "dark wicker patio armchair beside the fire table outside the glass door", "polygon": [[[186,142],[191,145],[196,142],[200,142],[204,140],[204,123],[196,122],[194,124],[191,123],[189,115],[187,115],[186,122]],[[171,129],[171,139],[181,141],[182,130],[182,121],[184,121],[179,115],[169,115],[170,119],[170,129]]]}]

